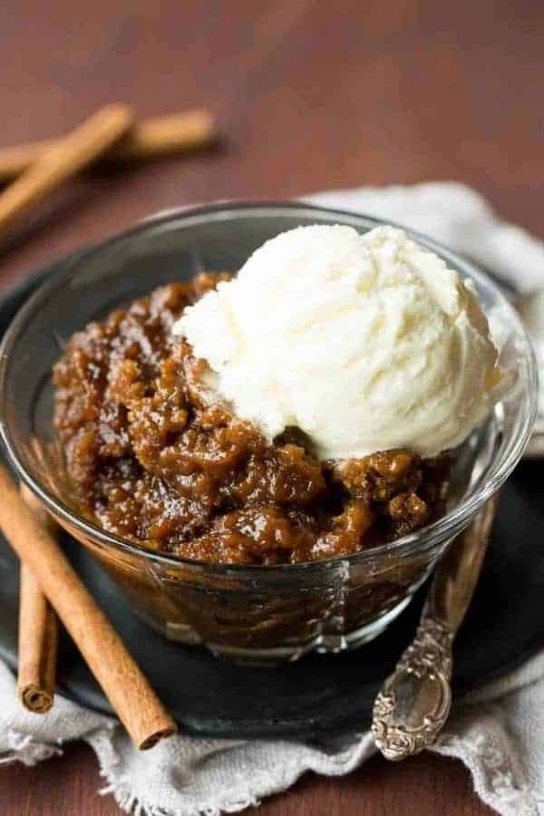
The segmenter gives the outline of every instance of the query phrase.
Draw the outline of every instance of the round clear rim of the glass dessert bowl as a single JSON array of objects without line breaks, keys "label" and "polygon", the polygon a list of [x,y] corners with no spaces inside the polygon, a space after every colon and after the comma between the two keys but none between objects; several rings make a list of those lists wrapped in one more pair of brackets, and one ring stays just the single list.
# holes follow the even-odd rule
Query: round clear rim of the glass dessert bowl
[{"label": "round clear rim of the glass dessert bowl", "polygon": [[[395,223],[394,221],[379,219],[374,216],[369,216],[364,213],[354,212],[343,209],[335,209],[324,207],[316,204],[307,203],[306,200],[274,200],[274,199],[222,199],[214,201],[209,204],[201,204],[197,206],[183,206],[180,208],[172,208],[160,211],[156,215],[152,215],[139,221],[131,228],[115,233],[105,240],[93,244],[91,247],[80,248],[73,253],[62,257],[56,264],[53,264],[53,274],[46,277],[34,293],[27,298],[23,306],[21,306],[15,314],[10,325],[8,325],[5,335],[0,343],[0,395],[4,399],[5,394],[5,379],[7,374],[7,365],[9,362],[10,352],[12,351],[16,340],[24,329],[24,324],[28,316],[34,313],[34,309],[47,296],[50,296],[55,287],[63,284],[64,277],[67,277],[72,269],[73,262],[78,262],[82,259],[92,257],[102,252],[118,242],[130,239],[132,236],[140,235],[149,229],[158,228],[162,225],[168,224],[170,221],[183,219],[190,221],[191,219],[228,219],[230,213],[239,213],[246,210],[249,215],[271,216],[274,211],[285,212],[287,210],[298,210],[301,214],[303,211],[307,213],[320,213],[327,217],[334,219],[338,217],[342,219],[343,223],[351,221],[354,227],[370,228],[382,226],[384,224],[392,225],[403,229],[406,234],[422,244],[425,248],[431,249],[437,253],[446,262],[451,263],[454,268],[461,271],[461,274],[468,277],[474,277],[486,287],[491,287],[494,296],[500,302],[502,307],[506,307],[510,313],[512,320],[518,334],[523,338],[524,351],[527,357],[528,364],[528,383],[526,391],[529,397],[529,410],[526,413],[523,424],[518,431],[517,438],[510,449],[502,453],[503,461],[491,478],[485,479],[483,483],[468,497],[465,497],[452,510],[449,510],[440,519],[433,521],[432,524],[426,525],[422,529],[416,530],[409,535],[403,536],[400,539],[380,544],[370,549],[364,549],[361,552],[352,555],[335,556],[331,559],[304,561],[296,564],[281,564],[281,565],[257,565],[257,564],[226,564],[219,562],[202,561],[199,559],[188,559],[182,556],[173,554],[166,554],[148,549],[143,544],[138,544],[128,539],[123,539],[121,536],[108,532],[98,525],[92,523],[80,516],[70,507],[65,505],[62,500],[49,491],[38,478],[35,478],[33,473],[29,472],[24,463],[20,460],[16,452],[16,443],[12,438],[8,424],[2,411],[2,404],[0,405],[0,437],[4,441],[5,449],[8,457],[15,467],[16,473],[24,481],[24,483],[34,492],[34,494],[44,503],[48,510],[51,510],[53,516],[58,520],[65,522],[68,528],[75,528],[83,534],[86,539],[91,539],[95,543],[100,543],[107,548],[121,550],[125,553],[130,553],[138,558],[150,559],[159,562],[163,565],[168,565],[170,568],[192,568],[205,570],[214,574],[230,574],[230,573],[266,573],[272,577],[274,575],[294,575],[296,572],[312,570],[324,570],[337,568],[339,565],[361,565],[367,562],[375,562],[380,559],[387,559],[393,555],[396,557],[408,557],[415,553],[423,553],[427,549],[432,549],[438,544],[447,539],[452,539],[462,529],[464,529],[470,522],[473,516],[480,510],[485,501],[489,500],[491,496],[500,489],[502,484],[508,479],[511,471],[514,469],[521,455],[529,442],[530,433],[535,420],[537,412],[537,364],[532,344],[529,335],[521,322],[514,307],[510,304],[507,297],[500,291],[500,287],[489,277],[481,267],[478,267],[472,261],[462,257],[443,246],[440,242],[432,238],[428,238],[417,230],[407,228],[403,225]],[[507,455],[508,454],[508,455]],[[488,466],[489,468],[490,466]]]}]

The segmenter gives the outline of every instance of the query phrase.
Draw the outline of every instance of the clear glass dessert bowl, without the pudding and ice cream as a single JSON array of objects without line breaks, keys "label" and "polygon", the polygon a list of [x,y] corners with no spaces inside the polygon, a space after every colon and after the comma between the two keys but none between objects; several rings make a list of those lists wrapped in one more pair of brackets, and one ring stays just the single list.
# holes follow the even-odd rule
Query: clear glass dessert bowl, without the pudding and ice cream
[{"label": "clear glass dessert bowl, without the pudding and ice cream", "polygon": [[364,232],[382,222],[305,204],[244,202],[151,219],[61,261],[15,316],[0,348],[0,431],[20,478],[112,575],[140,617],[171,640],[202,644],[238,662],[279,663],[311,649],[339,651],[384,631],[508,478],[536,411],[529,339],[500,288],[467,260],[406,230],[471,278],[500,365],[511,374],[500,403],[455,452],[449,507],[440,520],[355,555],[270,567],[164,555],[84,519],[65,486],[52,422],[52,369],[69,337],[160,284],[204,269],[236,270],[268,238],[315,223]]}]

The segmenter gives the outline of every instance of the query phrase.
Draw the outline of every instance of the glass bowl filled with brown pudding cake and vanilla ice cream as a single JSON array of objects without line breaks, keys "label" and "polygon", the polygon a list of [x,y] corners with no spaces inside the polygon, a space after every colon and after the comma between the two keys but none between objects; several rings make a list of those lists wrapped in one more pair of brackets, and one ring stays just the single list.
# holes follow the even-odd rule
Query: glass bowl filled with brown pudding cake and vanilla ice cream
[{"label": "glass bowl filled with brown pudding cake and vanilla ice cream", "polygon": [[488,278],[304,205],[184,211],[68,260],[1,376],[5,442],[55,518],[166,636],[249,662],[379,634],[507,478],[535,401]]}]

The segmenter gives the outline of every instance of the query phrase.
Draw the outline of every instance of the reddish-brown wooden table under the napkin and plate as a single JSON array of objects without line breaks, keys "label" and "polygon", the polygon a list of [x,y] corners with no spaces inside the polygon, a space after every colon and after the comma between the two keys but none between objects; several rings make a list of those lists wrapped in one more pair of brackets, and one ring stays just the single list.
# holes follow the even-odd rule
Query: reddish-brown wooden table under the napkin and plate
[{"label": "reddish-brown wooden table under the napkin and plate", "polygon": [[[223,139],[74,183],[5,242],[0,287],[152,210],[357,184],[465,181],[544,235],[543,25],[539,0],[6,0],[0,143],[61,133],[114,100],[142,115],[209,105]],[[90,749],[68,745],[0,770],[0,813],[114,813],[101,782]],[[261,811],[491,812],[459,763],[426,755],[308,775]]]}]

